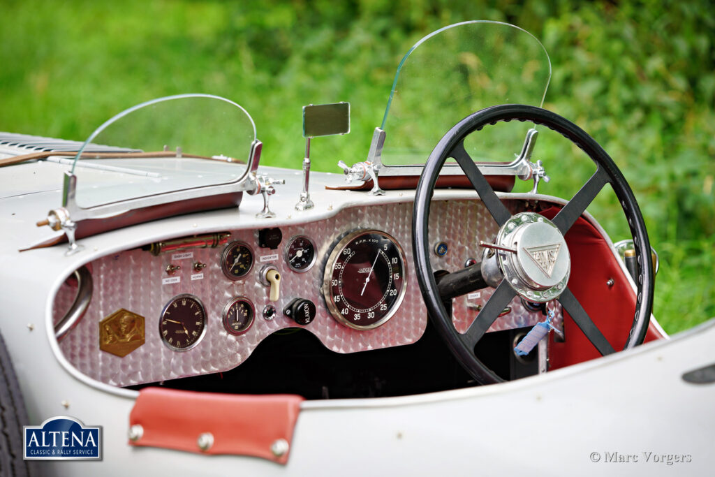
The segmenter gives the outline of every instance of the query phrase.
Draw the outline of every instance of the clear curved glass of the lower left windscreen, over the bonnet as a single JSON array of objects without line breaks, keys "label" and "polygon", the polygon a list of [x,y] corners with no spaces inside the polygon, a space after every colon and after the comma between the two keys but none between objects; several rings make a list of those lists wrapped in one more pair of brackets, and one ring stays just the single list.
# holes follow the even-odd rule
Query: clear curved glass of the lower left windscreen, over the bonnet
[{"label": "clear curved glass of the lower left windscreen, over the bonnet", "polygon": [[250,115],[222,97],[182,94],[138,104],[104,122],[77,153],[77,204],[235,182],[255,139]]}]

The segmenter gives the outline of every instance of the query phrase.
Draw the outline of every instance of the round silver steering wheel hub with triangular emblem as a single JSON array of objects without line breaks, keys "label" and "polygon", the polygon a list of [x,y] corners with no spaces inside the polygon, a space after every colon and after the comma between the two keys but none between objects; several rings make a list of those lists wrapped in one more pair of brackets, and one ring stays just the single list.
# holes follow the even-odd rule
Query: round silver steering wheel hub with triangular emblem
[{"label": "round silver steering wheel hub with triangular emblem", "polygon": [[[558,227],[534,212],[509,219],[486,260],[496,260],[503,278],[525,300],[543,303],[561,295],[571,275],[571,257]],[[506,250],[513,250],[511,252]],[[493,253],[494,257],[488,255]]]}]

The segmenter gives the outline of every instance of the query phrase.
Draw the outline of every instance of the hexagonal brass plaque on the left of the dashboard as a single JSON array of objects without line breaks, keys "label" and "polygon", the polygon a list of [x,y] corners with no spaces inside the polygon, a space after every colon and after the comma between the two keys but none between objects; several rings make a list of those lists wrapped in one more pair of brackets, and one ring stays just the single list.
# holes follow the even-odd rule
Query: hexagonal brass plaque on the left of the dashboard
[{"label": "hexagonal brass plaque on the left of the dashboard", "polygon": [[99,349],[122,358],[144,344],[144,317],[120,308],[99,322]]}]

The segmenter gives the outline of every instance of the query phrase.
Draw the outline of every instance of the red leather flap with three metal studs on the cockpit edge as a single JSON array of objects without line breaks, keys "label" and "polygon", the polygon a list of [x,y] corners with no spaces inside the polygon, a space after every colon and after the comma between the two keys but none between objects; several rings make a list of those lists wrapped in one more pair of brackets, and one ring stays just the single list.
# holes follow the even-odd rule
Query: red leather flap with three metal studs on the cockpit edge
[{"label": "red leather flap with three metal studs on the cockpit edge", "polygon": [[[235,454],[285,464],[303,398],[298,395],[235,395],[144,388],[129,414],[129,426],[142,426],[132,446],[152,446],[206,454]],[[199,436],[213,444],[199,448]],[[272,446],[281,439],[285,452]],[[278,446],[280,448],[280,445]]]}]

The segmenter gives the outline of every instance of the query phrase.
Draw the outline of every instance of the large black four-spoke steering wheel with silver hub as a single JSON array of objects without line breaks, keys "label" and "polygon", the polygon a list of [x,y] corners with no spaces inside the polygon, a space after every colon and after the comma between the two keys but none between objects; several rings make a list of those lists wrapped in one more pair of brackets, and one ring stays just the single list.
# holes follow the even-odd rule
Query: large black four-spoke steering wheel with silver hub
[{"label": "large black four-spoke steering wheel with silver hub", "polygon": [[[512,120],[541,124],[553,129],[583,149],[596,163],[597,169],[593,176],[551,221],[532,212],[511,215],[465,151],[464,139],[472,132],[479,131],[488,124]],[[435,182],[445,160],[450,157],[456,159],[500,227],[496,245],[504,250],[488,250],[488,253],[484,254],[481,265],[473,265],[455,272],[453,275],[458,277],[458,280],[451,280],[450,287],[444,287],[438,286],[430,265],[428,222]],[[455,358],[479,383],[498,383],[503,380],[475,356],[474,349],[480,338],[515,296],[522,296],[526,300],[537,303],[558,300],[601,355],[614,352],[611,343],[594,325],[581,303],[568,289],[570,256],[568,253],[558,252],[562,245],[561,250],[568,250],[563,236],[607,183],[611,184],[616,193],[628,225],[631,227],[638,263],[638,276],[635,278],[638,288],[636,312],[624,348],[626,349],[643,343],[648,329],[653,308],[653,264],[650,257],[651,245],[641,210],[638,208],[636,198],[633,197],[631,187],[606,151],[583,129],[558,114],[521,104],[503,104],[471,114],[450,129],[433,149],[420,177],[415,196],[413,213],[415,269],[420,290],[435,328]],[[534,255],[537,253],[547,255]],[[528,258],[529,254],[532,254],[531,259]],[[490,258],[487,258],[488,256]],[[543,266],[538,265],[541,257],[546,257],[541,264]],[[534,265],[535,263],[538,266]],[[488,271],[485,268],[488,268]],[[444,302],[455,295],[463,295],[485,287],[483,270],[485,275],[492,275],[491,282],[495,290],[466,333],[459,333]],[[493,278],[495,273],[498,280]],[[455,290],[458,292],[455,293]]]}]

